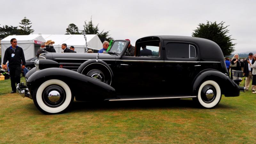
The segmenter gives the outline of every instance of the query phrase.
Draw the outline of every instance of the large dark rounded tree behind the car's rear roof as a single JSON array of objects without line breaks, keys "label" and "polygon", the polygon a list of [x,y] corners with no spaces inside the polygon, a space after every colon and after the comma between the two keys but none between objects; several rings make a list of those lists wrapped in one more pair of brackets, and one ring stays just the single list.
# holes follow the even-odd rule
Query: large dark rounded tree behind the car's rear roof
[{"label": "large dark rounded tree behind the car's rear roof", "polygon": [[205,38],[208,40],[211,40],[213,42],[216,42],[219,46],[220,49],[223,52],[224,56],[229,56],[232,52],[235,51],[234,46],[236,43],[233,43],[231,38],[231,35],[228,34],[228,26],[223,26],[225,22],[221,22],[219,24],[207,21],[206,24],[199,24],[194,32],[192,33],[193,37],[200,37],[200,38]]}]

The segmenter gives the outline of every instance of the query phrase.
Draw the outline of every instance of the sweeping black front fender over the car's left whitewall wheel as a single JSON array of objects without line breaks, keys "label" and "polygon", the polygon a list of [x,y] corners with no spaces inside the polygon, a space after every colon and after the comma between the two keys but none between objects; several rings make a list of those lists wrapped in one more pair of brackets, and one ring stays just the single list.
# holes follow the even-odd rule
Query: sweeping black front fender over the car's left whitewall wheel
[{"label": "sweeping black front fender over the car's left whitewall wheel", "polygon": [[36,71],[28,78],[27,86],[33,93],[35,88],[51,79],[64,81],[70,87],[72,95],[76,96],[76,99],[104,100],[116,98],[115,89],[108,84],[62,68],[47,68]]}]

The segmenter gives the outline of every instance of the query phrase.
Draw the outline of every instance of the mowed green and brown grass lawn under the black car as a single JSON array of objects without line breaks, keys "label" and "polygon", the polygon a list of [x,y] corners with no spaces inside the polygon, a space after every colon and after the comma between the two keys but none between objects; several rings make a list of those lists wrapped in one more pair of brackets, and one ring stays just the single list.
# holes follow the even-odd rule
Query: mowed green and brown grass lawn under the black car
[{"label": "mowed green and brown grass lawn under the black car", "polygon": [[[24,77],[21,81],[24,81]],[[191,99],[77,102],[44,115],[0,81],[0,143],[256,143],[256,94],[225,97],[214,109]]]}]

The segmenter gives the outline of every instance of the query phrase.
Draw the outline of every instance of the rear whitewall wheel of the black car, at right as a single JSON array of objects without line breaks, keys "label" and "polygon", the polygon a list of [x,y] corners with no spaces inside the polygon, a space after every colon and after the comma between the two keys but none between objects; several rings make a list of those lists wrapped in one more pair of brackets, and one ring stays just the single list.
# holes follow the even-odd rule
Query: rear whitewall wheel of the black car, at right
[{"label": "rear whitewall wheel of the black car, at right", "polygon": [[204,108],[214,108],[220,99],[220,86],[213,80],[203,82],[198,89],[197,98],[194,98]]}]

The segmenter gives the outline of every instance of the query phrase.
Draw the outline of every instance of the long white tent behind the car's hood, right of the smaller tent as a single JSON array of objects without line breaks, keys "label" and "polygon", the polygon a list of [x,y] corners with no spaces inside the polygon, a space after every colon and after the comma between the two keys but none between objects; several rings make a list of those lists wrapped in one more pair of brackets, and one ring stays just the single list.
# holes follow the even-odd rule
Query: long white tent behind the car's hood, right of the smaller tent
[{"label": "long white tent behind the car's hood, right of the smaller tent", "polygon": [[[39,34],[30,34],[30,35],[39,35]],[[55,43],[53,44],[56,52],[63,52],[61,49],[61,44],[66,43],[67,47],[75,47],[77,53],[85,52],[85,40],[83,34],[41,34],[42,37],[48,41],[52,40]],[[89,49],[102,49],[102,42],[97,34],[86,34],[87,47]]]}]

